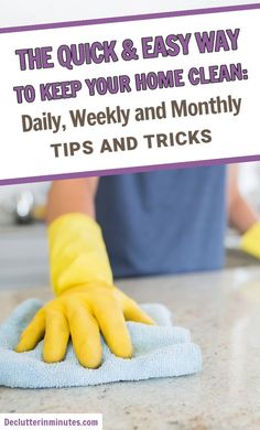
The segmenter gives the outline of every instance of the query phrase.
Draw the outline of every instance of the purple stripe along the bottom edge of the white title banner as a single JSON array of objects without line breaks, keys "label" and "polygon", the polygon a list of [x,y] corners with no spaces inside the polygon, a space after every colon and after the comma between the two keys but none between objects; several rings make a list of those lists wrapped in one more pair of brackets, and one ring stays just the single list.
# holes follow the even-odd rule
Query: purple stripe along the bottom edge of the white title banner
[{"label": "purple stripe along the bottom edge of the white title banner", "polygon": [[32,183],[32,182],[57,181],[57,180],[66,180],[66,179],[91,178],[91,176],[109,176],[112,174],[152,172],[154,170],[198,168],[205,165],[209,166],[209,165],[219,165],[219,164],[241,163],[246,161],[260,161],[260,154],[246,155],[246,157],[232,157],[232,158],[225,158],[218,160],[186,161],[181,163],[171,163],[171,164],[161,164],[161,165],[156,164],[156,165],[141,165],[137,168],[98,170],[94,172],[61,173],[61,174],[52,174],[45,176],[7,179],[7,180],[0,180],[0,185],[24,184],[24,183]]}]

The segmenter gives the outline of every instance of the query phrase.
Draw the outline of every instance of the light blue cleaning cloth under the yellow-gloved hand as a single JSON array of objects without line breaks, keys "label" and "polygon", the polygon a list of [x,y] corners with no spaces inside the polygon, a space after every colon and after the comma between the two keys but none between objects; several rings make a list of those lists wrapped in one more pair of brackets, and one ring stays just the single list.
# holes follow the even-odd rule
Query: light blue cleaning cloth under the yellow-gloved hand
[{"label": "light blue cleaning cloth under the yellow-gloved hand", "polygon": [[76,387],[189,375],[202,368],[199,347],[191,343],[187,330],[172,326],[170,311],[161,304],[142,307],[158,326],[128,322],[134,346],[131,359],[116,357],[104,341],[104,361],[98,369],[80,366],[72,344],[65,359],[55,364],[42,361],[43,342],[33,351],[15,353],[13,348],[21,332],[42,304],[39,300],[26,300],[0,325],[0,385],[17,388]]}]

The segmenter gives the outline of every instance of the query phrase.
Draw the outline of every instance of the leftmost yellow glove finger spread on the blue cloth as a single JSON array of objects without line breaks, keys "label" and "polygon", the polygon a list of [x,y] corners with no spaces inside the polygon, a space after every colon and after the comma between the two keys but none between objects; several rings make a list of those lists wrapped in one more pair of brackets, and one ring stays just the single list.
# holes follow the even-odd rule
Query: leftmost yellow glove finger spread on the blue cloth
[{"label": "leftmost yellow glove finger spread on the blue cloth", "polygon": [[41,309],[22,332],[15,351],[23,353],[33,350],[43,338],[45,332],[45,310]]}]

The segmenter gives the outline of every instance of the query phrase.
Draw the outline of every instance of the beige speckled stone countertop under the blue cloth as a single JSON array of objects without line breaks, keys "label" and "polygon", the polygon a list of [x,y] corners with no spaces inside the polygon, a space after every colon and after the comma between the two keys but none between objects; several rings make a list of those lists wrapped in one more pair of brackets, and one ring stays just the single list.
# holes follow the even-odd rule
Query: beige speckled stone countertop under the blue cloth
[{"label": "beige speckled stone countertop under the blue cloth", "polygon": [[[1,412],[102,412],[104,429],[260,429],[260,267],[132,279],[118,286],[161,302],[203,351],[201,374],[69,389],[0,388]],[[0,320],[48,288],[0,291]]]}]

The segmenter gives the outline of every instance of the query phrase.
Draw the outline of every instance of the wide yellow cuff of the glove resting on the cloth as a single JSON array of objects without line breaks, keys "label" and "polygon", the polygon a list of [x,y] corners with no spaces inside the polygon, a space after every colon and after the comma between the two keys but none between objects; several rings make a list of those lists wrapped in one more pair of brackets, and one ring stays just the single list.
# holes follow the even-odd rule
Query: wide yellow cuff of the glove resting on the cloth
[{"label": "wide yellow cuff of the glove resting on the cloth", "polygon": [[62,215],[48,226],[47,236],[51,280],[56,295],[94,281],[112,284],[101,229],[90,216]]}]

